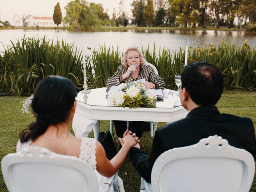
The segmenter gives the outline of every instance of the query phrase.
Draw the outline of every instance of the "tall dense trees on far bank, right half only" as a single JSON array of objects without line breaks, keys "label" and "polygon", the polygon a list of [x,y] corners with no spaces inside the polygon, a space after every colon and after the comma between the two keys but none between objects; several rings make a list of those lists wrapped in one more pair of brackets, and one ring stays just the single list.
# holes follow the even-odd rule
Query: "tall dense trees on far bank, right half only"
[{"label": "tall dense trees on far bank, right half only", "polygon": [[238,28],[256,21],[256,0],[134,0],[132,24],[137,26],[207,26]]}]

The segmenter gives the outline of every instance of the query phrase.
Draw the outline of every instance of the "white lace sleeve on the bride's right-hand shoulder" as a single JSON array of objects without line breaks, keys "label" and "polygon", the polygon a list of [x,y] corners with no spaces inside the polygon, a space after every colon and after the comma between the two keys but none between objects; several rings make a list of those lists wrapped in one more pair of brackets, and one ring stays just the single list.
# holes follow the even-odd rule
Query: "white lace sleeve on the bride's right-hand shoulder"
[{"label": "white lace sleeve on the bride's right-hand shoulder", "polygon": [[96,140],[94,138],[81,138],[79,158],[96,169]]}]

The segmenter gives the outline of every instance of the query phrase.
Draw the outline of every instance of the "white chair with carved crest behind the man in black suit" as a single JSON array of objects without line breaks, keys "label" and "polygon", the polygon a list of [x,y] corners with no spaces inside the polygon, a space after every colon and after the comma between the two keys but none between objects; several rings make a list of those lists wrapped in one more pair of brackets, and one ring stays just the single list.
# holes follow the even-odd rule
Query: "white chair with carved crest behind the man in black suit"
[{"label": "white chair with carved crest behind the man in black suit", "polygon": [[142,178],[141,191],[248,192],[254,170],[252,154],[209,136],[161,154],[152,168],[152,186]]}]

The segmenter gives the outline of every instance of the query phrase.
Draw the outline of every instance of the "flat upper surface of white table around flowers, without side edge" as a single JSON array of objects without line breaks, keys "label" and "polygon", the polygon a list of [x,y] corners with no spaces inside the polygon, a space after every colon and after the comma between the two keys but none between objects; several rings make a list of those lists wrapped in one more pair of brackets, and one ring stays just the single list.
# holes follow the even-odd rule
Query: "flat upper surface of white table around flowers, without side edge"
[{"label": "flat upper surface of white table around flowers, without side edge", "polygon": [[[169,89],[165,89],[167,92],[169,92]],[[173,91],[174,93],[176,91]],[[84,100],[84,93],[79,92],[76,101],[90,105],[90,106],[105,106],[105,107],[114,107],[114,108],[122,108],[118,106],[110,106],[108,105],[107,99],[106,99],[106,87],[103,88],[96,88],[90,90],[90,93],[87,94],[87,100],[85,102]],[[174,106],[175,102],[179,100],[180,98],[176,94],[169,94],[168,98],[164,98],[164,101],[162,102],[156,102],[156,108],[175,108],[177,106]],[[180,104],[179,104],[180,105]],[[131,109],[130,109],[131,110]]]}]

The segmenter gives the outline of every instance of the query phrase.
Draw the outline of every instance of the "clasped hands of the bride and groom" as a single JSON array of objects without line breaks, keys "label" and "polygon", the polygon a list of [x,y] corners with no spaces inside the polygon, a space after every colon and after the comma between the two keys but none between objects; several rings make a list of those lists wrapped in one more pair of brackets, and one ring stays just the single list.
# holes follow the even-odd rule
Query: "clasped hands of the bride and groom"
[{"label": "clasped hands of the bride and groom", "polygon": [[124,132],[123,138],[118,138],[120,144],[122,146],[128,145],[129,147],[137,147],[140,148],[140,140],[138,137],[136,137],[135,133],[132,133],[129,130],[126,130]]}]

